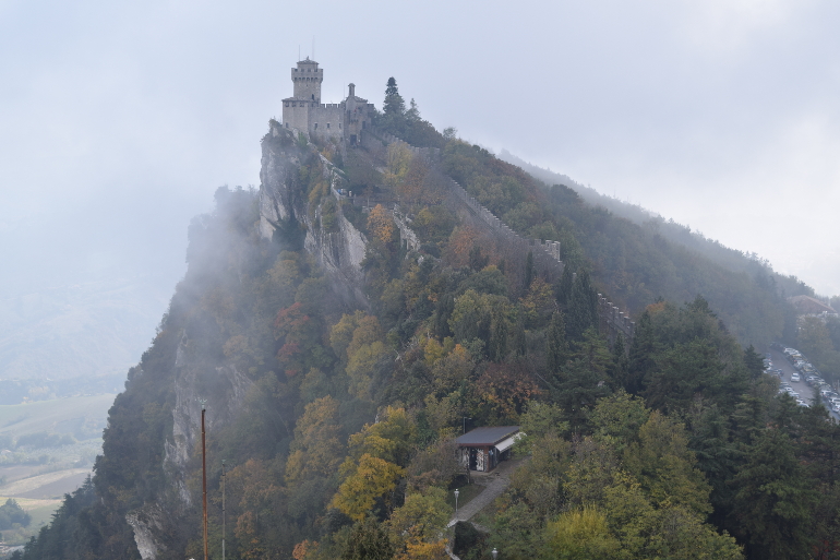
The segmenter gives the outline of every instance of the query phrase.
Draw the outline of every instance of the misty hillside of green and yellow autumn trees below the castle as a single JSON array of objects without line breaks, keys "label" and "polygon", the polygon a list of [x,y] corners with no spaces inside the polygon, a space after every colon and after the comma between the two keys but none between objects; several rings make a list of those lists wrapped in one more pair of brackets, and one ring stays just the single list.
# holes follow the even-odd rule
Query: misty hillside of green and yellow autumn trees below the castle
[{"label": "misty hillside of green and yellow autumn trees below the castle", "polygon": [[[512,228],[560,241],[562,276],[483,243],[440,204],[431,164],[396,144],[377,159],[266,135],[264,165],[280,150],[297,162],[284,184],[298,206],[268,237],[256,192],[216,192],[92,482],[16,558],[203,556],[200,396],[212,558],[223,460],[228,558],[447,558],[467,418],[527,437],[489,533],[456,528],[464,559],[837,557],[840,428],[817,403],[777,396],[749,345],[792,321],[771,275],[716,264],[567,187],[540,189],[439,134],[396,84],[384,109],[381,129],[441,148],[437,170]],[[337,195],[334,169],[373,203]],[[365,241],[365,305],[313,249],[350,226]],[[633,341],[608,344],[598,293],[633,312]]]}]

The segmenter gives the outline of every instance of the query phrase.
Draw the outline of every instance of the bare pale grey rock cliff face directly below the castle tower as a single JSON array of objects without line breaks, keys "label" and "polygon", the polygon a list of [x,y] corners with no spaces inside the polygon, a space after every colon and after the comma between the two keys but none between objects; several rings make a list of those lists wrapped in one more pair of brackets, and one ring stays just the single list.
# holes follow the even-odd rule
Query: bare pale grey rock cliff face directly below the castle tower
[{"label": "bare pale grey rock cliff face directly below the castle tower", "polygon": [[[260,230],[271,238],[278,229],[302,227],[303,247],[313,254],[329,279],[333,291],[349,307],[368,307],[362,291],[364,274],[361,262],[368,240],[341,214],[337,205],[337,227],[325,231],[322,227],[322,206],[310,205],[298,169],[301,160],[317,154],[312,146],[300,146],[291,132],[272,121],[262,142],[263,157],[260,171]],[[323,179],[329,186],[329,195],[340,199],[338,190],[346,188],[341,171],[317,154]]]}]

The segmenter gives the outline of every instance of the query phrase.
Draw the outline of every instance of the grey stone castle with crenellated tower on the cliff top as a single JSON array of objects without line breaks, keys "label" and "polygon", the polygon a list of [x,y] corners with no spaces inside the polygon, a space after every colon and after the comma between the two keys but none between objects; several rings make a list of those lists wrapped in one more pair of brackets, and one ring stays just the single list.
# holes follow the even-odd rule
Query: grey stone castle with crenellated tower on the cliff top
[{"label": "grey stone castle with crenellated tower on the cliff top", "polygon": [[375,109],[368,99],[356,96],[356,85],[349,85],[341,103],[321,103],[321,82],[324,70],[317,62],[305,60],[291,69],[295,94],[283,100],[283,126],[297,132],[321,139],[360,144],[362,134],[371,127]]}]

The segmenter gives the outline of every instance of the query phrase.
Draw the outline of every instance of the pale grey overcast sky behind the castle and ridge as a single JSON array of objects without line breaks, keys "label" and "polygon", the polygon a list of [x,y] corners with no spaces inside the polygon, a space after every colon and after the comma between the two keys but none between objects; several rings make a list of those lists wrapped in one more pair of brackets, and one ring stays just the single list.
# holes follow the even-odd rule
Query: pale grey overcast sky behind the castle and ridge
[{"label": "pale grey overcast sky behind the castle and ridge", "polygon": [[313,56],[439,128],[840,294],[840,3],[0,0],[0,295],[183,272]]}]

